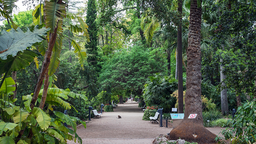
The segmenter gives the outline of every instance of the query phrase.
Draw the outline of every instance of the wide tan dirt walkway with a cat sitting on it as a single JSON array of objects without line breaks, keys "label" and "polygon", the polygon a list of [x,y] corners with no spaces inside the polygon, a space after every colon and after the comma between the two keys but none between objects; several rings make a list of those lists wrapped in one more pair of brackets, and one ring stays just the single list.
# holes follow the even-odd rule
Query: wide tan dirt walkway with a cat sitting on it
[{"label": "wide tan dirt walkway with a cat sitting on it", "polygon": [[[122,118],[118,119],[120,115]],[[105,112],[99,119],[92,119],[86,125],[77,128],[77,134],[83,139],[83,144],[97,143],[129,143],[150,144],[159,136],[172,130],[172,127],[159,127],[142,120],[143,111],[138,108],[138,103],[118,104],[114,112]],[[222,128],[224,129],[224,128]],[[208,128],[214,134],[219,134],[220,128]],[[69,144],[73,144],[69,142]]]}]

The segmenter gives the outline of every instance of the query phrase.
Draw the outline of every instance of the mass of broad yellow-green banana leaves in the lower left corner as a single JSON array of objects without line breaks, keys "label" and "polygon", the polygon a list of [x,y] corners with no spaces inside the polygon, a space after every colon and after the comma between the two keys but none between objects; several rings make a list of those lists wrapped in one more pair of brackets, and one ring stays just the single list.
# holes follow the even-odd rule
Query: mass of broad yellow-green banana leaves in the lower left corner
[{"label": "mass of broad yellow-green banana leaves in the lower left corner", "polygon": [[[66,143],[67,140],[82,143],[82,139],[76,133],[76,126],[77,123],[81,123],[86,128],[85,122],[59,111],[53,111],[52,106],[63,107],[68,110],[73,106],[63,101],[63,99],[81,97],[87,100],[85,95],[70,92],[69,89],[48,88],[46,99],[48,106],[46,106],[46,111],[43,111],[39,107],[34,107],[32,110],[30,103],[33,94],[22,96],[24,106],[14,105],[17,98],[10,98],[12,91],[15,89],[12,86],[13,84],[15,84],[14,80],[11,77],[7,77],[0,88],[0,110],[2,118],[0,122],[0,143],[61,144]],[[42,96],[42,91],[39,93],[39,98]],[[50,113],[53,113],[56,118],[52,118]],[[65,127],[63,123],[70,125],[72,129]],[[26,134],[22,134],[19,137],[19,133],[22,130]],[[27,137],[30,133],[32,135]]]}]

